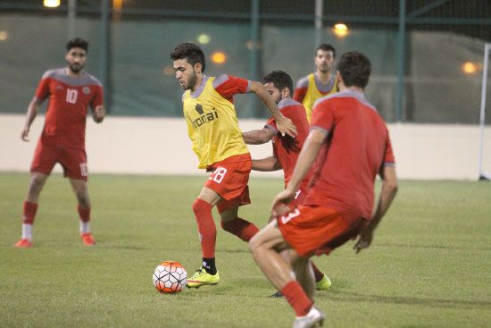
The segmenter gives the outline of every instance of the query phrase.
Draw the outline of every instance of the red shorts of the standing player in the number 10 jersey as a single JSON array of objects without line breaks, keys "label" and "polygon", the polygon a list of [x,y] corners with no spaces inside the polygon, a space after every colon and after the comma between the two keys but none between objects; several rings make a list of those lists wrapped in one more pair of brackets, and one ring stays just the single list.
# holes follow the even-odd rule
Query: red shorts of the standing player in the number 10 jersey
[{"label": "red shorts of the standing player in the number 10 jersey", "polygon": [[87,155],[84,149],[65,148],[39,141],[30,172],[49,174],[56,163],[62,164],[65,177],[87,181]]}]

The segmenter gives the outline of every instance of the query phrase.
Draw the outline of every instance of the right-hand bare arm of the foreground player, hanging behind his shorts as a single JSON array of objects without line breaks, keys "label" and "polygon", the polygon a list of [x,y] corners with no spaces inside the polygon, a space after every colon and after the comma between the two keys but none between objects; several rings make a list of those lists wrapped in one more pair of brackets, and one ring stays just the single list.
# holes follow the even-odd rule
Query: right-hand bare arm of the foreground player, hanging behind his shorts
[{"label": "right-hand bare arm of the foreground player, hanging behind his shorts", "polygon": [[370,222],[360,233],[358,241],[354,244],[356,254],[360,253],[363,248],[369,248],[373,240],[373,231],[377,228],[384,214],[387,213],[388,207],[397,193],[397,175],[394,166],[384,166],[380,172],[382,178],[382,187],[380,190],[379,202],[375,211],[370,218]]}]

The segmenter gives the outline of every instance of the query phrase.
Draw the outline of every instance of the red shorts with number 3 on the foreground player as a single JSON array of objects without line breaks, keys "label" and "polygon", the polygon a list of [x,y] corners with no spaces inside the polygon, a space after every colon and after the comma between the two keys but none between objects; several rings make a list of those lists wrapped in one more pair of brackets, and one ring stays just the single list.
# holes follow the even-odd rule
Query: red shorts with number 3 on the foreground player
[{"label": "red shorts with number 3 on the foreground player", "polygon": [[288,245],[302,257],[329,254],[358,235],[366,220],[342,209],[298,206],[278,218]]}]

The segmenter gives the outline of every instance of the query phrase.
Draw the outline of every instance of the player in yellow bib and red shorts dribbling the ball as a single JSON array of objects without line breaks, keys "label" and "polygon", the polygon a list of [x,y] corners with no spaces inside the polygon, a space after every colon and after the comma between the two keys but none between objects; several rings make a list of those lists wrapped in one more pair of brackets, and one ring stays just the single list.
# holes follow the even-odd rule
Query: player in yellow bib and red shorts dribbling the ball
[{"label": "player in yellow bib and red shorts dribbling the ball", "polygon": [[295,137],[295,125],[279,112],[278,105],[261,83],[222,74],[204,75],[203,50],[182,43],[171,53],[176,79],[186,91],[182,97],[187,133],[198,157],[198,168],[212,172],[193,203],[193,212],[203,253],[203,262],[187,280],[187,287],[199,288],[220,282],[215,265],[216,226],[212,207],[217,206],[221,227],[248,241],[257,227],[237,216],[238,207],[250,204],[249,173],[252,160],[238,127],[234,96],[254,93],[268,107],[278,130]]}]

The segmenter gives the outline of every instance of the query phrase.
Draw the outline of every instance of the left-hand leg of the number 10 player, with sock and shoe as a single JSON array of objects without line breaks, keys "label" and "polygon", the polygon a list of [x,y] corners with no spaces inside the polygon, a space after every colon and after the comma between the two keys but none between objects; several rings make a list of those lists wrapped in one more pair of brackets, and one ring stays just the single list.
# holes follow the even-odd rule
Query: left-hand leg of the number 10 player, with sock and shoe
[{"label": "left-hand leg of the number 10 player, with sock and shoe", "polygon": [[47,175],[41,172],[31,172],[29,189],[22,211],[22,236],[15,245],[16,248],[32,247],[32,225],[37,213],[37,201],[41,189],[45,185]]}]

